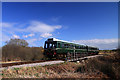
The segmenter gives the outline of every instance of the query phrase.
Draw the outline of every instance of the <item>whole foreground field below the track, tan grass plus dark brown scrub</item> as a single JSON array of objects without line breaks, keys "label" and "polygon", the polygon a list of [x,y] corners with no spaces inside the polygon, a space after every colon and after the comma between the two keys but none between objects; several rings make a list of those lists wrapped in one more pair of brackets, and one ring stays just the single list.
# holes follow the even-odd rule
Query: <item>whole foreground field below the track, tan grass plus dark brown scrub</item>
[{"label": "whole foreground field below the track, tan grass plus dark brown scrub", "polygon": [[87,78],[112,79],[120,78],[120,55],[104,54],[102,57],[85,61],[65,62],[61,64],[6,69],[1,73],[3,78]]}]

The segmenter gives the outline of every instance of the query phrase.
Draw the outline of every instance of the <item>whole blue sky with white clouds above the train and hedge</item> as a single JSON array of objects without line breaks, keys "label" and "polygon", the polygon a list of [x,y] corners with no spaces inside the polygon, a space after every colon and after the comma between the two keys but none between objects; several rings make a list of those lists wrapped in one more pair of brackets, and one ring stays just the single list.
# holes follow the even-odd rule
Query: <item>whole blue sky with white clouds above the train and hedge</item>
[{"label": "whole blue sky with white clouds above the train and hedge", "polygon": [[118,46],[117,2],[3,2],[2,45],[11,38],[44,46],[57,38],[100,49]]}]

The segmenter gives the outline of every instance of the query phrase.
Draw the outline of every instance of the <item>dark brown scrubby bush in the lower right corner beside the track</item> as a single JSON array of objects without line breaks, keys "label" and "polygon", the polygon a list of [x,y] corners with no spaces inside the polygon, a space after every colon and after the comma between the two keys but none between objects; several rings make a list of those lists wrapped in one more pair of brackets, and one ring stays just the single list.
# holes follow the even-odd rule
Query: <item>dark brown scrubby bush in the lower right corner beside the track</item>
[{"label": "dark brown scrubby bush in the lower right corner beside the track", "polygon": [[85,65],[80,66],[77,72],[95,72],[100,71],[110,77],[112,80],[120,78],[120,56],[116,53],[112,56],[102,56],[90,59]]}]

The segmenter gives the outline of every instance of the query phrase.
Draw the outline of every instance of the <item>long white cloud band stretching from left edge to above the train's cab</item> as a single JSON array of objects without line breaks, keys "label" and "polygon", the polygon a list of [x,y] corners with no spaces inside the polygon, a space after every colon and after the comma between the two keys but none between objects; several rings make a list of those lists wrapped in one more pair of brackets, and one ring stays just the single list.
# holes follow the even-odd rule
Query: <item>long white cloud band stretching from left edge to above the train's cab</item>
[{"label": "long white cloud band stretching from left edge to above the train's cab", "polygon": [[[27,23],[26,25],[24,25],[24,28],[16,27],[19,25],[21,24],[7,23],[7,22],[2,23],[2,27],[4,27],[3,29],[6,30],[6,28],[7,29],[9,28],[9,30],[14,32],[18,31],[18,32],[32,32],[32,33],[51,33],[51,32],[54,32],[56,29],[62,28],[61,25],[49,25],[41,21],[31,21],[30,23]],[[10,27],[12,27],[12,29]]]}]

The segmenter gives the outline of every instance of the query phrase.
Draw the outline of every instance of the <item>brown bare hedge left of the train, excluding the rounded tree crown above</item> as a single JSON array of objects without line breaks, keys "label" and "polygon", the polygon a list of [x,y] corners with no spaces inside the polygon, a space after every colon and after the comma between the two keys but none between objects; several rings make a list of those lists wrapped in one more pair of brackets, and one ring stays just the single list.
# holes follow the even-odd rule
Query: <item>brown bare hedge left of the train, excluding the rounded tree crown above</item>
[{"label": "brown bare hedge left of the train, excluding the rounded tree crown above", "polygon": [[2,48],[2,61],[31,61],[44,58],[42,47],[6,45]]}]

